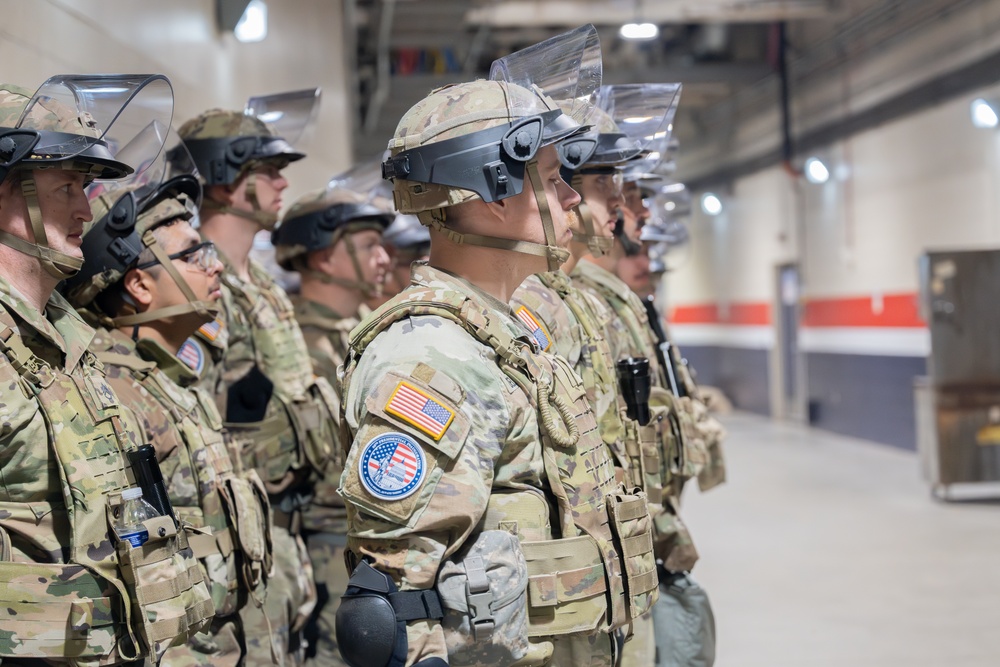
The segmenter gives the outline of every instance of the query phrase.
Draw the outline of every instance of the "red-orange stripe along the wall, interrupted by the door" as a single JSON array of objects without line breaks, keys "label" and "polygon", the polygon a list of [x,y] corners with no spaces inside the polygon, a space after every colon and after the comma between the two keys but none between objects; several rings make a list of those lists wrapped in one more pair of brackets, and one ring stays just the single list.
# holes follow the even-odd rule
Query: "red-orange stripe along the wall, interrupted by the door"
[{"label": "red-orange stripe along the wall, interrupted by the door", "polygon": [[[920,319],[915,293],[810,299],[802,307],[804,327],[925,327]],[[771,323],[771,304],[744,302],[729,304],[690,304],[670,311],[671,324],[767,325]]]}]

